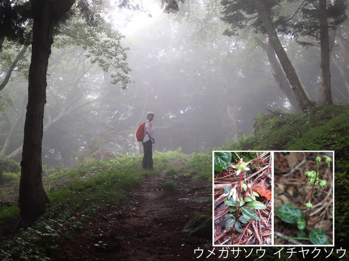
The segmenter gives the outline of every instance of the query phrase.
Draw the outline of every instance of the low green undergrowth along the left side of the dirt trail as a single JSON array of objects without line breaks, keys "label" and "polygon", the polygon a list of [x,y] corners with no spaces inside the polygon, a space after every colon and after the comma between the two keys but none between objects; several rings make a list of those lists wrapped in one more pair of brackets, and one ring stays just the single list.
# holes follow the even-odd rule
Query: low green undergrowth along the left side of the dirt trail
[{"label": "low green undergrowth along the left side of the dirt trail", "polygon": [[[27,228],[21,225],[12,193],[18,194],[20,172],[5,172],[6,186],[0,190],[0,260],[47,260],[59,240],[69,240],[71,231],[83,228],[101,209],[126,200],[127,192],[140,186],[144,178],[160,173],[170,178],[208,178],[201,171],[211,167],[205,166],[211,164],[204,161],[206,158],[204,154],[184,154],[179,148],[155,152],[154,170],[142,168],[142,156],[121,154],[110,161],[86,159],[72,169],[44,169],[42,180],[50,204],[45,214]],[[174,181],[164,186],[164,190],[175,193]]]}]

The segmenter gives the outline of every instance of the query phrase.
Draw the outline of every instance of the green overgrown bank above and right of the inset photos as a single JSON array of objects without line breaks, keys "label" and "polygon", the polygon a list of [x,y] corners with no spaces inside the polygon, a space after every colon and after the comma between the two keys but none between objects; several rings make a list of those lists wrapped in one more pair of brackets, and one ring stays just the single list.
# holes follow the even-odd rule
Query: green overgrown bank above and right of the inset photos
[{"label": "green overgrown bank above and right of the inset photos", "polygon": [[260,115],[255,134],[222,150],[334,150],[335,247],[346,248],[349,234],[349,106],[320,106],[303,113]]}]

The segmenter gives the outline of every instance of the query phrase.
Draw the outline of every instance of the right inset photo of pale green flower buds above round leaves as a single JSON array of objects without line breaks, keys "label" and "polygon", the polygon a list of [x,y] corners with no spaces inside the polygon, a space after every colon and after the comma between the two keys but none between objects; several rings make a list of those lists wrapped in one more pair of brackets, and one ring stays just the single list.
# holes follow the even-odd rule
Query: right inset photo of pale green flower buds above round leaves
[{"label": "right inset photo of pale green flower buds above round leaves", "polygon": [[334,151],[274,152],[274,244],[334,246]]}]

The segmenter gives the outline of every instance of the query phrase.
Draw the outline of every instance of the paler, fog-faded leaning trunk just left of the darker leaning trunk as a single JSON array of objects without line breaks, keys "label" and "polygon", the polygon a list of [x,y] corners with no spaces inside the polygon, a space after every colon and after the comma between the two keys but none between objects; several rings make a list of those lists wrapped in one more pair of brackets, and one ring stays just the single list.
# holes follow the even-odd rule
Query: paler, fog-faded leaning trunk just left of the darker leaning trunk
[{"label": "paler, fog-faded leaning trunk just left of the darker leaning trunk", "polygon": [[261,46],[264,51],[266,52],[268,56],[268,60],[270,63],[270,66],[273,70],[273,77],[277,84],[279,85],[281,91],[285,94],[287,99],[289,100],[290,104],[292,105],[293,111],[298,112],[299,111],[299,106],[298,102],[296,100],[295,94],[292,92],[292,88],[290,83],[288,82],[279,61],[277,60],[275,56],[275,51],[273,49],[273,46],[271,45],[270,41],[268,41],[267,44],[262,42],[258,37],[254,37],[256,43]]}]

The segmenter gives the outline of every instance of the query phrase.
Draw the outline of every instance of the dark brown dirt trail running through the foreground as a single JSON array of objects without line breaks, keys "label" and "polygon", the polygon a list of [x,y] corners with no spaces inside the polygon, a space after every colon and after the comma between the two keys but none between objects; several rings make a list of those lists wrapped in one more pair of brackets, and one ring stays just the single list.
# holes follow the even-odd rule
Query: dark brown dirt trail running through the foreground
[{"label": "dark brown dirt trail running through the foreground", "polygon": [[61,242],[52,260],[195,260],[194,249],[210,249],[211,235],[187,236],[181,232],[195,214],[211,215],[208,181],[175,179],[177,193],[165,195],[160,175],[144,180],[129,193],[127,202],[110,206]]}]

